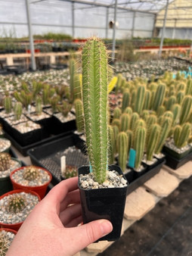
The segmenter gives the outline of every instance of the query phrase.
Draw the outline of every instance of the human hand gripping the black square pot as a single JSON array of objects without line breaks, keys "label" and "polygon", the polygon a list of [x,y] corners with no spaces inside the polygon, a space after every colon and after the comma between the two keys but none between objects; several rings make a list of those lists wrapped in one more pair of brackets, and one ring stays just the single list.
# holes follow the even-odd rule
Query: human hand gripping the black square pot
[{"label": "human hand gripping the black square pot", "polygon": [[73,255],[113,229],[108,220],[81,226],[77,177],[63,180],[36,205],[15,236],[6,256]]}]

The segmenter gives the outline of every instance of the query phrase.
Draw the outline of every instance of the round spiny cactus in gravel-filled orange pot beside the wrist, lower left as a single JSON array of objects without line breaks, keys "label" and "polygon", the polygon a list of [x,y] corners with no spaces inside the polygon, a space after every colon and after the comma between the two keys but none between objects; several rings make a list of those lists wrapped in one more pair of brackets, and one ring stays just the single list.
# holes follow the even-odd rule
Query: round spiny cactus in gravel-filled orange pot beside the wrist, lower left
[{"label": "round spiny cactus in gravel-filled orange pot beside the wrist, lower left", "polygon": [[17,189],[5,193],[0,197],[0,226],[17,231],[39,201],[39,195],[33,191]]}]

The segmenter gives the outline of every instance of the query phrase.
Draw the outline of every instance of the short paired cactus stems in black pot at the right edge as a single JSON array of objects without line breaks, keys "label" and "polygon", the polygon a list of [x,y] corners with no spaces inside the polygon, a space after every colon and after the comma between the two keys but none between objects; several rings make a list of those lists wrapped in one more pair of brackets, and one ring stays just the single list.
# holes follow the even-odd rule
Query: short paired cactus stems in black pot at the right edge
[{"label": "short paired cactus stems in black pot at the right edge", "polygon": [[190,127],[190,123],[184,123],[183,126],[175,126],[173,139],[176,147],[182,148],[187,145],[190,136]]}]

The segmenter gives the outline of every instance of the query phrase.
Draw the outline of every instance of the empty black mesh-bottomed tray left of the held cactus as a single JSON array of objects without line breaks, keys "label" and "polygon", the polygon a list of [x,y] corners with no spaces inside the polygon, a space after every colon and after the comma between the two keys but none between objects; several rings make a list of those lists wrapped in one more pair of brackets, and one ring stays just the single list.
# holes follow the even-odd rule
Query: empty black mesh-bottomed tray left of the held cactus
[{"label": "empty black mesh-bottomed tray left of the held cactus", "polygon": [[[67,148],[74,146],[75,151],[66,151]],[[79,149],[79,150],[78,150]],[[66,155],[66,164],[80,167],[88,164],[88,158],[85,153],[85,142],[77,138],[72,133],[63,138],[52,142],[39,145],[27,151],[34,165],[44,167],[49,170],[53,176],[51,183],[56,185],[60,182],[60,158]]]}]

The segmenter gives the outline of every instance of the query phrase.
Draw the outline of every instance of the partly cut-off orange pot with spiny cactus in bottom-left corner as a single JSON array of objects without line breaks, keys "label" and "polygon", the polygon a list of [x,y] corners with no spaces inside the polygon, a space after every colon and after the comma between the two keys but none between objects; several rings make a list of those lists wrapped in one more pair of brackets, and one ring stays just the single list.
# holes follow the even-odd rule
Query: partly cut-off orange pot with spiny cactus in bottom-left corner
[{"label": "partly cut-off orange pot with spiny cactus in bottom-left corner", "polygon": [[8,248],[11,245],[11,242],[14,239],[14,236],[17,234],[17,231],[14,229],[3,229],[0,228],[0,255],[6,256]]}]

